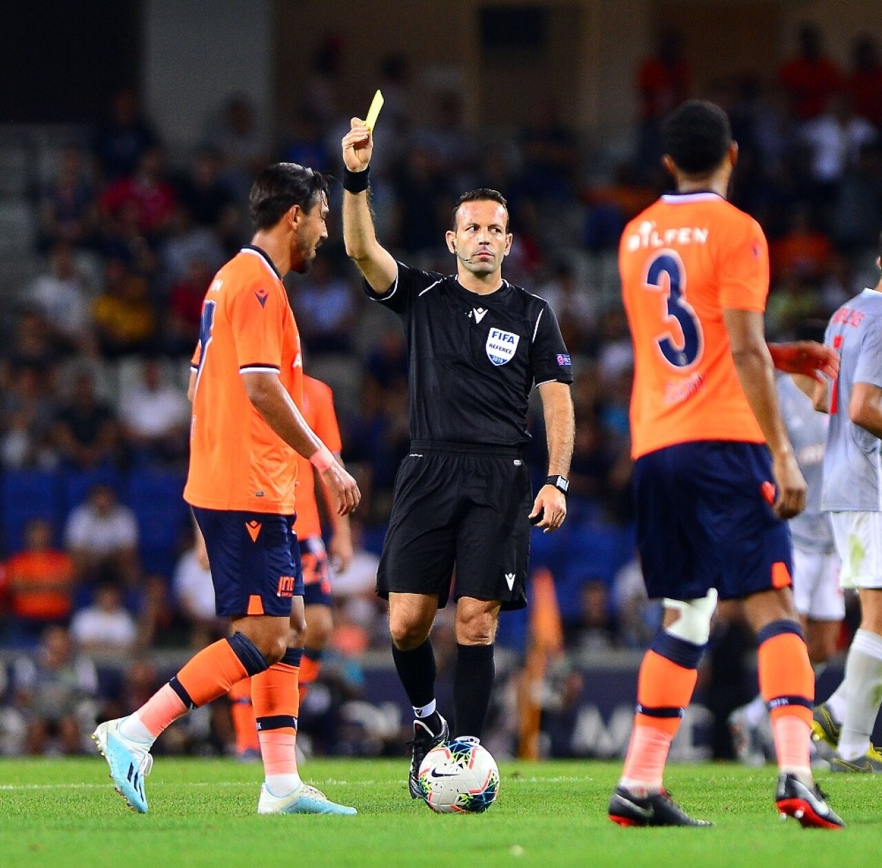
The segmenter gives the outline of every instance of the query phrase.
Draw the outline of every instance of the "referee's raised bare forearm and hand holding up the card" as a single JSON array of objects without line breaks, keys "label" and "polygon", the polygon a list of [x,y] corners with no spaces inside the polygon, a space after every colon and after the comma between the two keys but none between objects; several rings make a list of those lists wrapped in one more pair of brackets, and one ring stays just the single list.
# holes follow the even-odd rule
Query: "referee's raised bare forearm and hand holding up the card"
[{"label": "referee's raised bare forearm and hand holding up the card", "polygon": [[[343,137],[343,162],[349,172],[364,172],[370,166],[374,139],[360,118],[354,117],[351,124],[352,129]],[[398,275],[398,266],[392,254],[377,241],[367,189],[360,193],[344,189],[343,241],[348,256],[370,288],[379,295],[388,293]]]}]

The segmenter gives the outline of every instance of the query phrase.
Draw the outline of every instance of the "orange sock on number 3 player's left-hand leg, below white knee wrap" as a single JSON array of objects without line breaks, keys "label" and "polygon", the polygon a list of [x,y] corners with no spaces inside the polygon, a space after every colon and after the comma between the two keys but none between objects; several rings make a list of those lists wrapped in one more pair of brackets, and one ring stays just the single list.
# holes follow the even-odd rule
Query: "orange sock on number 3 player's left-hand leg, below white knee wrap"
[{"label": "orange sock on number 3 player's left-hand leg, below white knee wrap", "polygon": [[702,646],[661,633],[643,657],[637,683],[637,714],[619,781],[628,790],[662,789],[670,743],[692,698],[701,651]]}]

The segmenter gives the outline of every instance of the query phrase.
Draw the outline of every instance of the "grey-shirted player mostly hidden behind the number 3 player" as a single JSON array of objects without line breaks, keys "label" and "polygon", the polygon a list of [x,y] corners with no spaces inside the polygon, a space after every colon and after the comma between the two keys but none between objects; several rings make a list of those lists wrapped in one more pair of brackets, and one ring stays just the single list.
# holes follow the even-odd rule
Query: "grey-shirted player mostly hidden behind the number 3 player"
[{"label": "grey-shirted player mostly hidden behind the number 3 player", "polygon": [[[833,657],[839,638],[845,602],[839,582],[840,560],[833,545],[830,516],[821,512],[822,464],[827,437],[826,414],[817,412],[789,376],[776,381],[781,416],[793,443],[796,462],[808,493],[805,509],[789,521],[793,539],[793,602],[805,632],[809,657],[815,667]],[[739,760],[762,765],[774,753],[772,730],[762,695],[736,708],[729,730]]]}]

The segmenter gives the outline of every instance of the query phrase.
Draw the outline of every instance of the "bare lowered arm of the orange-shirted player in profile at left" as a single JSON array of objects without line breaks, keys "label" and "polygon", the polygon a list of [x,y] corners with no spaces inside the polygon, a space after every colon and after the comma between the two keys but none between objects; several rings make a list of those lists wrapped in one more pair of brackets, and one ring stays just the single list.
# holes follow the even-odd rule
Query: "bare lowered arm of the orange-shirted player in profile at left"
[{"label": "bare lowered arm of the orange-shirted player in profile at left", "polygon": [[266,424],[291,449],[308,458],[316,467],[322,482],[336,498],[340,516],[352,512],[362,499],[355,479],[334,460],[325,444],[306,424],[294,399],[281,384],[279,375],[269,371],[254,371],[243,374],[242,380],[251,404],[254,404]]}]

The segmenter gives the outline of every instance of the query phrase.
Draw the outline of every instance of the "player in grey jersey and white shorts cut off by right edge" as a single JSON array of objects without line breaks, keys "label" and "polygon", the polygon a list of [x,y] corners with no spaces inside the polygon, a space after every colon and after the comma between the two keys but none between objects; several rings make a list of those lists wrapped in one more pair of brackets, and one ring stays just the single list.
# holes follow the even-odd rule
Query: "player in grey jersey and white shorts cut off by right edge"
[{"label": "player in grey jersey and white shorts cut off by right edge", "polygon": [[882,703],[882,279],[833,314],[825,341],[841,360],[831,387],[812,387],[815,406],[830,413],[821,508],[861,625],[841,685],[814,709],[812,738],[837,748],[833,771],[882,772],[870,740]]}]

